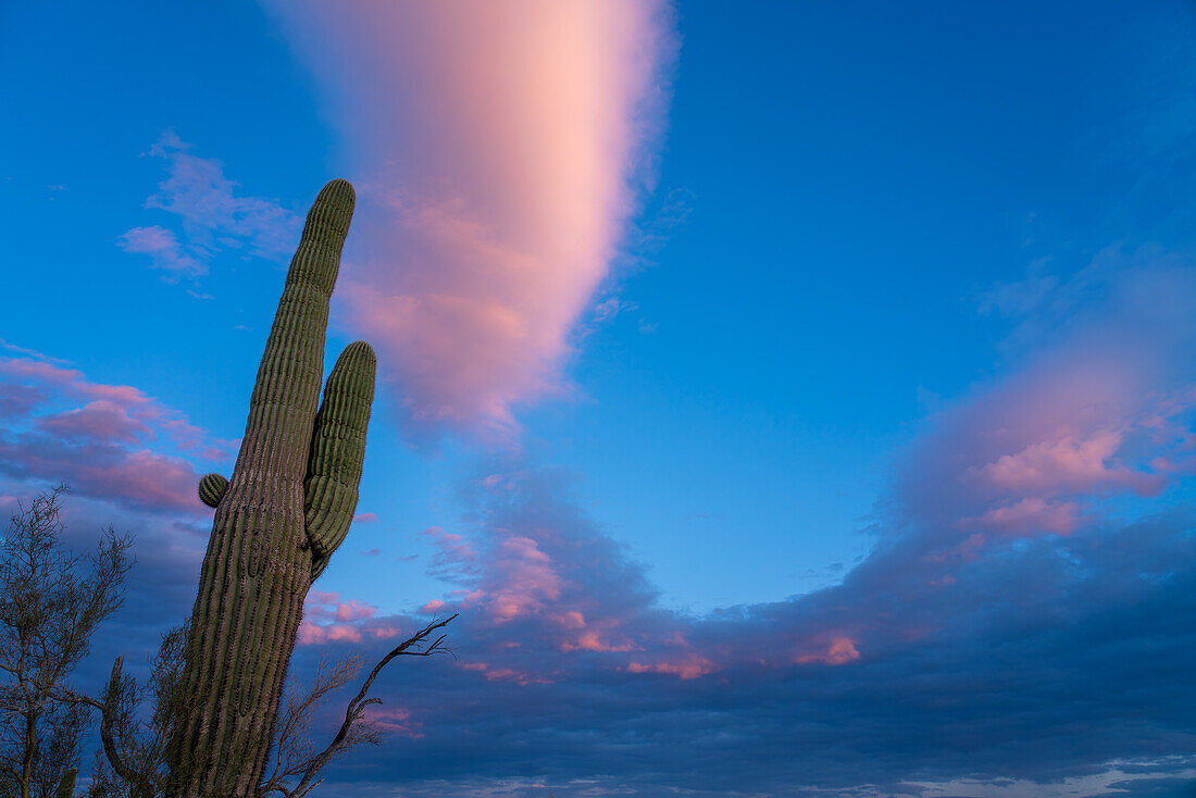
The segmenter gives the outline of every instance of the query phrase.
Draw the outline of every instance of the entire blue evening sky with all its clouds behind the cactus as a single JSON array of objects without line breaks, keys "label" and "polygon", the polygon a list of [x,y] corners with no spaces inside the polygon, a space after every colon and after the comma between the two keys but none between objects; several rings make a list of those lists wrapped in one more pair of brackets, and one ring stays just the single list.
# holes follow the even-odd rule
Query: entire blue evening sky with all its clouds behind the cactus
[{"label": "entire blue evening sky with all its clouds behind the cactus", "polygon": [[[338,796],[1196,790],[1196,10],[0,6],[0,505],[195,596],[303,215],[378,352]],[[347,700],[343,696],[342,700]],[[340,709],[318,727],[329,735]]]}]

